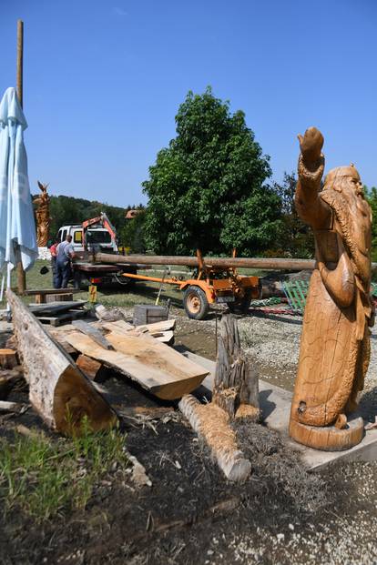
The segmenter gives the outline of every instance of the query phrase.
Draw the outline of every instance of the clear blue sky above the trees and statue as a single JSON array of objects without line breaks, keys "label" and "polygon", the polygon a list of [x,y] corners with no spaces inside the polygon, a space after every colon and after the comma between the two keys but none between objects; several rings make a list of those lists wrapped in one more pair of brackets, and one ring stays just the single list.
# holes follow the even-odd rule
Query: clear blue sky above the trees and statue
[{"label": "clear blue sky above the trees and statue", "polygon": [[318,126],[326,169],[355,163],[377,186],[375,0],[0,0],[0,94],[15,86],[25,22],[25,144],[36,179],[127,206],[175,136],[187,92],[242,109],[273,178]]}]

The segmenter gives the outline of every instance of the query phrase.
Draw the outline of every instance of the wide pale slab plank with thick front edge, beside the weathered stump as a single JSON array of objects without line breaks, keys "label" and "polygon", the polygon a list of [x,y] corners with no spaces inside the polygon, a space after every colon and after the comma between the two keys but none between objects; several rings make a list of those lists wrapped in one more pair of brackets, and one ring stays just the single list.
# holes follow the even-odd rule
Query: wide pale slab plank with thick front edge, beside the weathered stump
[{"label": "wide pale slab plank with thick front edge, beside the weathered stump", "polygon": [[66,341],[90,358],[116,368],[160,399],[179,399],[199,386],[209,371],[146,334],[107,334],[115,351],[99,347],[78,331],[66,332]]}]

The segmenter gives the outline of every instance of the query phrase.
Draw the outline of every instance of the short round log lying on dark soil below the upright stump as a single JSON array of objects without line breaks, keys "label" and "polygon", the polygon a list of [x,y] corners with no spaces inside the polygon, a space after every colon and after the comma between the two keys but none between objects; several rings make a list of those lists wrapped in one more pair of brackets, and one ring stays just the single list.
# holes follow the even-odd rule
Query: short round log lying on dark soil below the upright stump
[{"label": "short round log lying on dark soil below the upright stump", "polygon": [[200,404],[190,394],[179,401],[178,407],[199,437],[208,444],[227,479],[236,482],[246,480],[251,472],[251,463],[238,449],[236,435],[229,426],[225,410],[213,404]]}]

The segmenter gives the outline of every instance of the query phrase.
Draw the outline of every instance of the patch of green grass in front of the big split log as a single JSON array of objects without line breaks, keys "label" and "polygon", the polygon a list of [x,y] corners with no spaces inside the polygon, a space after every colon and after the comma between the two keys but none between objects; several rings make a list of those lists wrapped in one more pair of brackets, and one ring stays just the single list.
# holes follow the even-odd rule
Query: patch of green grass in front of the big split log
[{"label": "patch of green grass in front of the big split log", "polygon": [[67,510],[84,509],[97,482],[115,464],[127,468],[125,436],[117,429],[83,433],[74,439],[49,439],[32,430],[0,440],[0,499],[5,512],[21,510],[47,520]]}]

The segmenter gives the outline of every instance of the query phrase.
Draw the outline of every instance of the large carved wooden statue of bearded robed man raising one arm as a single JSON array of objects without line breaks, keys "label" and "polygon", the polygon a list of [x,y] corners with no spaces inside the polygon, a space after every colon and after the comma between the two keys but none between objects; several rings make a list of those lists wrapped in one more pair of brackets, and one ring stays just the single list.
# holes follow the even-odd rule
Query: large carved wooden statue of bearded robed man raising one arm
[{"label": "large carved wooden statue of bearded robed man raising one arm", "polygon": [[290,436],[316,449],[348,449],[361,441],[352,415],[370,359],[372,213],[356,168],[330,171],[321,190],[323,136],[299,136],[295,204],[311,225],[316,268],[306,302]]}]

